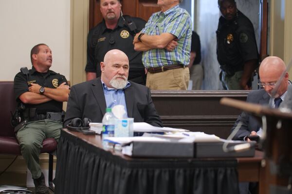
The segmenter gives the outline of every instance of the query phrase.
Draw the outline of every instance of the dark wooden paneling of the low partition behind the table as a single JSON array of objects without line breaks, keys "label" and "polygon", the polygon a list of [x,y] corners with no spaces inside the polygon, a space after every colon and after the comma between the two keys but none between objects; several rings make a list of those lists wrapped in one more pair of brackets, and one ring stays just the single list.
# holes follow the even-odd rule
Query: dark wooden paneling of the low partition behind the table
[{"label": "dark wooden paneling of the low partition behind the table", "polygon": [[219,104],[221,97],[246,100],[246,91],[151,91],[156,111],[165,127],[215,134],[226,139],[237,116],[232,107]]}]

